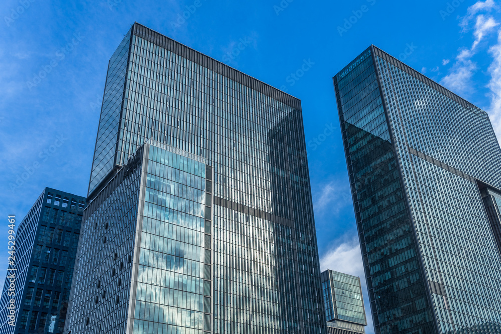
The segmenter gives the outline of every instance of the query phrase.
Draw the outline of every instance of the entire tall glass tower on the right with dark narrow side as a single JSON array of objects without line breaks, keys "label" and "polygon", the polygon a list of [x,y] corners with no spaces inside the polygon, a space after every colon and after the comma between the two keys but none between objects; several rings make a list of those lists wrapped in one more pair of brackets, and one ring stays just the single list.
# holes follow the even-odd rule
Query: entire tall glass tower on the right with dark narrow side
[{"label": "entire tall glass tower on the right with dark narrow side", "polygon": [[334,77],[377,333],[501,333],[486,112],[371,46]]}]

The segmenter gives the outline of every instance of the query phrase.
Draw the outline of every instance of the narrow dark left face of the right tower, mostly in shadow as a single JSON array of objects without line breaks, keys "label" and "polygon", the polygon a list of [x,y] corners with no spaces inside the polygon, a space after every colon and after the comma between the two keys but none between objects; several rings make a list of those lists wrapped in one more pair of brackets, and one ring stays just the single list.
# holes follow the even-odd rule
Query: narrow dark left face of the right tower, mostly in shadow
[{"label": "narrow dark left face of the right tower, mostly in shadow", "polygon": [[433,316],[371,49],[334,81],[376,331],[431,333]]}]

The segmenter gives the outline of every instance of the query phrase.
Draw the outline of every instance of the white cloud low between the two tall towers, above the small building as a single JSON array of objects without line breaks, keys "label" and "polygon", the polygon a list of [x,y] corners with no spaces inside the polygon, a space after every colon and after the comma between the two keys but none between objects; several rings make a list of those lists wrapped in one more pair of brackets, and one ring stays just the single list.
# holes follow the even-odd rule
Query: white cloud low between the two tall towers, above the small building
[{"label": "white cloud low between the two tall towers, above the small building", "polygon": [[347,241],[341,241],[341,243],[334,242],[330,250],[320,257],[320,269],[322,271],[331,269],[360,277],[362,292],[364,294],[365,314],[368,324],[366,332],[368,334],[374,333],[369,294],[367,292],[367,282],[365,280],[362,253],[360,251],[360,243],[358,239],[355,237]]}]

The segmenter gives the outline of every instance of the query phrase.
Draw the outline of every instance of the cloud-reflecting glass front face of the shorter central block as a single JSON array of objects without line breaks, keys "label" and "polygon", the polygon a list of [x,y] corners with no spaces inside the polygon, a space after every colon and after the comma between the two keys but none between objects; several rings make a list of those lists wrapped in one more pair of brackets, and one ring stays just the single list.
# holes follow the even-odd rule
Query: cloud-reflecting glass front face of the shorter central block
[{"label": "cloud-reflecting glass front face of the shorter central block", "polygon": [[149,148],[134,334],[203,333],[205,173],[205,164]]}]

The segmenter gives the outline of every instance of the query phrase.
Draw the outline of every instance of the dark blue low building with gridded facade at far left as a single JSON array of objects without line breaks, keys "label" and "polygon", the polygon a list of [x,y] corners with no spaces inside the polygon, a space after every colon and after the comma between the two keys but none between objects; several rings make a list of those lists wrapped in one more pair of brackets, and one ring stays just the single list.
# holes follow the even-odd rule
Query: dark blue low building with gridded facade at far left
[{"label": "dark blue low building with gridded facade at far left", "polygon": [[0,298],[1,334],[63,334],[84,206],[85,197],[45,188],[19,223]]}]

